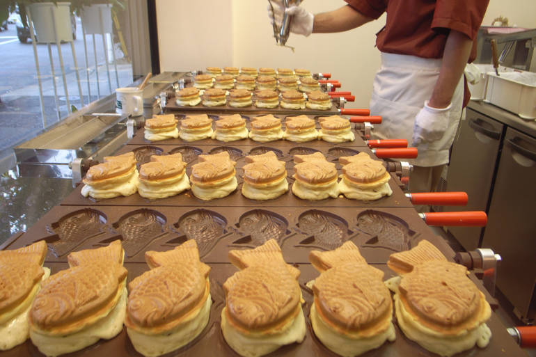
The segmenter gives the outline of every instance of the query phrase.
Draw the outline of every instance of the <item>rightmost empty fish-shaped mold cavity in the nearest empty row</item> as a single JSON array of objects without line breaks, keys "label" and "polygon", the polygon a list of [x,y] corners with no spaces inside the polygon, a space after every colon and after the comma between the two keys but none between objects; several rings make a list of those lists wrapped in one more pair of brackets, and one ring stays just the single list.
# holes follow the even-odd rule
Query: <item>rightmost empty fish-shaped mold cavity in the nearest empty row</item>
[{"label": "rightmost empty fish-shaped mold cavity in the nearest empty row", "polygon": [[392,214],[368,209],[357,216],[357,228],[372,238],[365,246],[378,246],[392,251],[407,251],[415,235],[408,224]]}]

